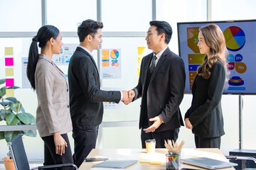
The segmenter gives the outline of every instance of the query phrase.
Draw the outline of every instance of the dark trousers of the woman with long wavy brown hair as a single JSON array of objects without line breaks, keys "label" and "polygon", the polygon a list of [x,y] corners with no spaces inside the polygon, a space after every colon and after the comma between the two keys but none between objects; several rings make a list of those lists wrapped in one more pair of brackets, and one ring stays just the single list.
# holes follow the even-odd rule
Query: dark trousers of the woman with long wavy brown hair
[{"label": "dark trousers of the woman with long wavy brown hair", "polygon": [[220,137],[198,137],[195,135],[196,148],[220,149]]}]

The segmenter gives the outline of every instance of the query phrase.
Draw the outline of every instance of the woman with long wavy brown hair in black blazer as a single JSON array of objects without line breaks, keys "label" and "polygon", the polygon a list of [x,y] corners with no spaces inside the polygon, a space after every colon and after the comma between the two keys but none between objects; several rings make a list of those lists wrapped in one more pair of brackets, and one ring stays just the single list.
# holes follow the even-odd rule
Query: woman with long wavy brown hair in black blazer
[{"label": "woman with long wavy brown hair in black blazer", "polygon": [[223,130],[221,96],[225,83],[228,50],[220,28],[204,26],[198,34],[198,47],[206,54],[192,86],[192,104],[185,115],[186,128],[195,134],[197,148],[220,148]]}]

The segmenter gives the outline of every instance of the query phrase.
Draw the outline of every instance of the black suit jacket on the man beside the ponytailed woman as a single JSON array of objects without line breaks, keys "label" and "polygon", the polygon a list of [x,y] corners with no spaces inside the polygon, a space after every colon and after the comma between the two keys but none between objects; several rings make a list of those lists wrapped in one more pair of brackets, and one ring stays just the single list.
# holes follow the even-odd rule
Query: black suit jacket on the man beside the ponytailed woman
[{"label": "black suit jacket on the man beside the ponytailed woman", "polygon": [[100,77],[92,56],[77,47],[68,66],[70,114],[73,125],[100,125],[102,101],[119,103],[119,91],[100,90]]}]

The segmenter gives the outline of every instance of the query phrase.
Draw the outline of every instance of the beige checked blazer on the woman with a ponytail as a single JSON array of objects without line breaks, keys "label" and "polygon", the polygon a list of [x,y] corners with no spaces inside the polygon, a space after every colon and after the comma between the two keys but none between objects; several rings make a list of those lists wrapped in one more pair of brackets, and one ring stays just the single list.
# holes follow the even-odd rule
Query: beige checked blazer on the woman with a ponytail
[{"label": "beige checked blazer on the woman with a ponytail", "polygon": [[36,126],[39,135],[54,132],[64,134],[72,130],[65,74],[46,55],[39,55],[35,73],[38,108]]}]

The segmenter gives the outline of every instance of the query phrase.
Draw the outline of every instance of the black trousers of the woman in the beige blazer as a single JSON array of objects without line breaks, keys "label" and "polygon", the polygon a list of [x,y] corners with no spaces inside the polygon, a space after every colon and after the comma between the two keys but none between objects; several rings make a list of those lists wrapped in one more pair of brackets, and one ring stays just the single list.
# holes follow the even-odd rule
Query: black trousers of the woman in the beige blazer
[{"label": "black trousers of the woman in the beige blazer", "polygon": [[[60,156],[60,154],[56,154],[55,152],[55,144],[53,135],[42,137],[44,142],[44,163],[43,165],[53,165],[53,164],[73,164],[72,152],[70,148],[70,142],[68,140],[68,135],[65,133],[61,135],[65,142],[67,142],[68,147],[65,147],[65,154]],[[72,167],[68,168],[59,168],[61,170],[70,170]],[[53,170],[53,169],[50,169]]]}]

